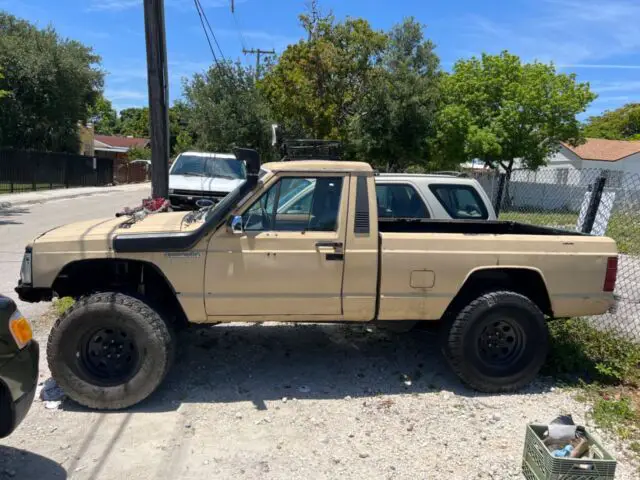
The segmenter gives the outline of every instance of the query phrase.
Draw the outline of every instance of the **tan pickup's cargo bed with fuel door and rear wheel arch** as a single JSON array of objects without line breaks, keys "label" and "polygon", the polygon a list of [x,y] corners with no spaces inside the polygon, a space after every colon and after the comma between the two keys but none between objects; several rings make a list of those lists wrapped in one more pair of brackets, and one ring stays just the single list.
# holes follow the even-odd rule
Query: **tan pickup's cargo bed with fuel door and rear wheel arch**
[{"label": "tan pickup's cargo bed with fuel door and rear wheel arch", "polygon": [[380,320],[439,319],[474,272],[491,269],[533,272],[549,292],[551,316],[611,305],[603,281],[616,246],[607,237],[517,222],[402,219],[380,221],[379,235]]}]

